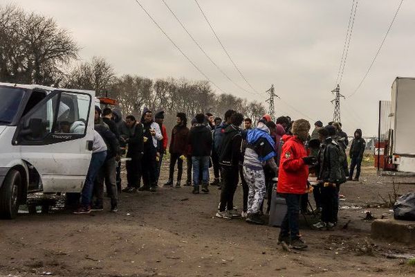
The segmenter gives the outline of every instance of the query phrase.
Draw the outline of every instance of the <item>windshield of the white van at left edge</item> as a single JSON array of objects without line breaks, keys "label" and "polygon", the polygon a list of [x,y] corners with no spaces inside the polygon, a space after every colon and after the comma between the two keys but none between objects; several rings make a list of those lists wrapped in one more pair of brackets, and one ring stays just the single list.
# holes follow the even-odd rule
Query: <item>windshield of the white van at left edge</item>
[{"label": "windshield of the white van at left edge", "polygon": [[9,125],[15,118],[24,89],[16,87],[0,87],[0,125]]}]

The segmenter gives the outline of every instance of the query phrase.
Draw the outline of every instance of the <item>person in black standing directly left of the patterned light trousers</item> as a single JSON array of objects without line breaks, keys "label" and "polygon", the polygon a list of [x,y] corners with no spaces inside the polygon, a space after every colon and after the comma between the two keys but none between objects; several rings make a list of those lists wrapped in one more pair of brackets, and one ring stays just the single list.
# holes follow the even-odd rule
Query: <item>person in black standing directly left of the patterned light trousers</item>
[{"label": "person in black standing directly left of the patterned light trousers", "polygon": [[241,216],[241,213],[234,210],[233,198],[239,182],[238,166],[242,160],[242,136],[241,128],[239,127],[242,121],[242,114],[232,114],[230,120],[228,120],[230,125],[226,127],[223,134],[221,155],[219,156],[219,164],[223,168],[223,183],[219,211],[216,213],[216,217],[230,219]]}]

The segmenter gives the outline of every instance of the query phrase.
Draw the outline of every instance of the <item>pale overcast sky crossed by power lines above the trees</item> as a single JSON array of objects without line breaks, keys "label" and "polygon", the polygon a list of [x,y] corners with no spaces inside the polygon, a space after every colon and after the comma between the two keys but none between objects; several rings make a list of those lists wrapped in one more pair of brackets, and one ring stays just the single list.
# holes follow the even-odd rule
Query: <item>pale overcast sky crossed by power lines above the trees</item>
[{"label": "pale overcast sky crossed by power lines above the trees", "polygon": [[[139,0],[174,42],[223,91],[264,101],[241,91],[201,53],[161,0]],[[234,82],[252,90],[234,70],[194,0],[165,0]],[[82,47],[80,57],[105,57],[120,75],[149,78],[203,76],[185,60],[134,0],[14,0],[28,11],[55,18]],[[331,90],[342,55],[352,0],[199,0],[205,15],[243,75],[260,93],[275,84],[277,116],[302,114],[327,123],[333,116]],[[400,0],[360,0],[341,92],[348,96],[367,71]],[[344,130],[377,134],[378,100],[390,100],[396,76],[415,77],[415,1],[404,1],[391,33],[356,95],[342,100]],[[220,92],[219,89],[216,91]]]}]

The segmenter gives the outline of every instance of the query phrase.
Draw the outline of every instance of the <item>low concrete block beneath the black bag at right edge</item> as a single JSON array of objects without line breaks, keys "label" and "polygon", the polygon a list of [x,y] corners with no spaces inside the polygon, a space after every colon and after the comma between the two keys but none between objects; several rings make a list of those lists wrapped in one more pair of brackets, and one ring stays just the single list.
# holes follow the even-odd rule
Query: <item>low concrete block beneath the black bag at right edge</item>
[{"label": "low concrete block beneath the black bag at right edge", "polygon": [[415,245],[415,221],[375,220],[371,224],[371,238]]}]

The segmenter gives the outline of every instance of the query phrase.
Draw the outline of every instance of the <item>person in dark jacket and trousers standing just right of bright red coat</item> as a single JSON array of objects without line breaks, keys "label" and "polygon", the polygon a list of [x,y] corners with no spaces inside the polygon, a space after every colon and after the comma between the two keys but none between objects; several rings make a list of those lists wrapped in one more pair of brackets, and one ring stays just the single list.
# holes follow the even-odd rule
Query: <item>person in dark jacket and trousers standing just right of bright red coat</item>
[{"label": "person in dark jacket and trousers standing just right of bright red coat", "polygon": [[330,134],[333,126],[326,126],[318,130],[322,143],[317,158],[317,181],[320,183],[322,213],[321,220],[313,225],[315,229],[332,229],[337,223],[338,214],[338,186],[344,183],[344,171],[340,163],[342,150]]}]

